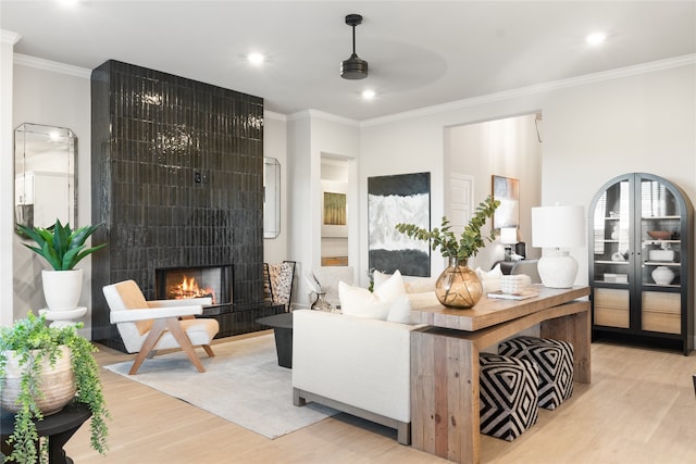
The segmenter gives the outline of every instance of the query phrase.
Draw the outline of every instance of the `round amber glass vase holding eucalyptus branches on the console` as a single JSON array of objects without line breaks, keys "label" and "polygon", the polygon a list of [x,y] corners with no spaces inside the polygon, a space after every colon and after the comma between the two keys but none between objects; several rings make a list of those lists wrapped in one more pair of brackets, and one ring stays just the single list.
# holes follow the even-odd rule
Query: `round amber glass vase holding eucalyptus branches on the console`
[{"label": "round amber glass vase holding eucalyptus branches on the console", "polygon": [[483,296],[483,285],[467,260],[449,259],[449,266],[435,283],[435,296],[448,308],[472,308]]}]

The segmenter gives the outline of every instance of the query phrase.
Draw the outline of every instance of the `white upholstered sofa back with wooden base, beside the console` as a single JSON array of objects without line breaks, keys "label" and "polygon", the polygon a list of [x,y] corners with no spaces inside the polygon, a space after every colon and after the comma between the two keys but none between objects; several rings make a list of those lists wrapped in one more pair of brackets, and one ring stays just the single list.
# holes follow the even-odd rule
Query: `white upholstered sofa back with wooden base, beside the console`
[{"label": "white upholstered sofa back with wooden base, beside the console", "polygon": [[396,428],[411,440],[410,334],[420,326],[293,312],[293,402],[314,401]]}]

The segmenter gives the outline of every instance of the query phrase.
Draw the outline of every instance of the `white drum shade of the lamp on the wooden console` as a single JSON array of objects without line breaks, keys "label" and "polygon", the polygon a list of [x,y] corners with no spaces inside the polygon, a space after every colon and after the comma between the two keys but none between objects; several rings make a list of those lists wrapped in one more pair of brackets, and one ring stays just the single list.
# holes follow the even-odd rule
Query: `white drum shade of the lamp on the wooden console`
[{"label": "white drum shade of the lamp on the wooden console", "polygon": [[585,244],[583,206],[532,208],[532,246],[572,248]]}]

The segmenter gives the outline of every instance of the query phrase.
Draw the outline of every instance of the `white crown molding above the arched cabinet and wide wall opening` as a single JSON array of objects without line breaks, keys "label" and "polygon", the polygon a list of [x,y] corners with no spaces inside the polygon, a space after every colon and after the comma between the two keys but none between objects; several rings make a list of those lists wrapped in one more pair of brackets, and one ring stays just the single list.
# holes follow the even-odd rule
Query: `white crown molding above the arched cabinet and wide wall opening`
[{"label": "white crown molding above the arched cabinet and wide wall opening", "polygon": [[544,93],[551,90],[563,89],[569,87],[584,86],[588,84],[601,83],[605,80],[618,79],[622,77],[637,76],[641,74],[652,73],[656,71],[671,70],[674,67],[688,66],[696,64],[696,53],[685,54],[682,57],[668,58],[664,60],[651,61],[648,63],[636,64],[633,66],[617,67],[616,70],[602,71],[600,73],[585,74],[583,76],[569,77],[568,79],[551,80],[548,83],[536,84],[533,86],[521,87],[512,90],[504,90],[496,93],[488,93],[481,97],[473,97],[464,100],[451,101],[434,106],[425,106],[419,110],[405,111],[402,113],[390,114],[388,116],[375,117],[373,120],[364,120],[360,122],[360,127],[377,126],[381,124],[393,123],[397,121],[410,120],[414,117],[428,116],[436,113],[445,113],[448,111],[461,110],[464,108],[476,106],[480,104],[497,102],[500,100],[509,100],[513,98],[526,97],[536,93]]}]

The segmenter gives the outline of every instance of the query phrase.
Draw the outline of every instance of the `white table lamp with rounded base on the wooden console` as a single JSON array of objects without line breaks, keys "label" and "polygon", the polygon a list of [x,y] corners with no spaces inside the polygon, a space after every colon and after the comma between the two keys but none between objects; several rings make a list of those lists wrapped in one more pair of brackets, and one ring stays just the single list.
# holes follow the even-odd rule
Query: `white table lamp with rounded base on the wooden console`
[{"label": "white table lamp with rounded base on the wooden console", "polygon": [[538,262],[542,283],[550,288],[571,288],[577,275],[577,261],[562,248],[585,244],[583,206],[532,208],[532,246],[552,248]]}]

